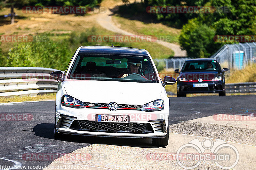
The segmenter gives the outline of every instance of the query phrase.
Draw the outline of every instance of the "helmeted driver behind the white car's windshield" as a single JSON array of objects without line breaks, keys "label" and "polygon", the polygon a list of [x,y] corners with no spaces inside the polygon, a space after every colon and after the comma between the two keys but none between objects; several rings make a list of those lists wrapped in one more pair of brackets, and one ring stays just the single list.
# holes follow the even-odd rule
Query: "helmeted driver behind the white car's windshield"
[{"label": "helmeted driver behind the white car's windshield", "polygon": [[128,59],[127,61],[127,70],[128,74],[124,74],[122,78],[128,76],[129,74],[140,74],[142,68],[142,62],[139,59]]}]

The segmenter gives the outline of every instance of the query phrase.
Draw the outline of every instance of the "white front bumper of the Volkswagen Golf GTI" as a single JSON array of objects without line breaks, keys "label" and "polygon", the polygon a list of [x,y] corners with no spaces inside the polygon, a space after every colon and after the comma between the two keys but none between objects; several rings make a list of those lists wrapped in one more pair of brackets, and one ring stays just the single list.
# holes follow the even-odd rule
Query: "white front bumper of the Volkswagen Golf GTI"
[{"label": "white front bumper of the Volkswagen Golf GTI", "polygon": [[[59,106],[59,108],[57,106]],[[58,133],[99,137],[163,138],[166,136],[167,130],[169,130],[167,126],[169,106],[168,111],[166,108],[164,108],[164,110],[155,112],[143,112],[137,110],[116,110],[115,113],[113,113],[112,111],[109,111],[107,109],[76,109],[65,107],[60,104],[60,101],[56,100],[56,110],[57,111],[55,125],[56,132]],[[145,128],[143,129],[143,131],[140,132],[128,132],[125,130],[122,132],[118,132],[117,130],[108,132],[107,130],[104,130],[104,126],[101,126],[102,124],[98,127],[94,125],[90,126],[90,128],[87,129],[84,127],[81,128],[81,122],[92,122],[92,124],[95,124],[95,114],[130,115],[131,125],[128,125],[128,127],[130,126],[132,128],[137,126],[137,124],[145,124]],[[146,119],[142,120],[141,118]],[[125,123],[112,123],[111,126],[114,126],[114,128],[116,128],[116,126],[120,126],[119,129],[122,129],[122,124]],[[127,128],[127,124],[125,127]],[[99,130],[97,130],[97,128],[99,128]]]}]

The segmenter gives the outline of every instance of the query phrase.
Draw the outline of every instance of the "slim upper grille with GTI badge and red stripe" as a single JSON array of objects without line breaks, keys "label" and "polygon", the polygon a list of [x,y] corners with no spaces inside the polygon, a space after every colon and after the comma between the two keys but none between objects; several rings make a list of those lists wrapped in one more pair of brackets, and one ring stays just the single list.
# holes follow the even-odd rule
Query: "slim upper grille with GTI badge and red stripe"
[{"label": "slim upper grille with GTI badge and red stripe", "polygon": [[[108,109],[108,103],[88,103],[84,102],[85,107],[88,108],[99,108]],[[117,109],[120,110],[140,110],[142,105],[127,105],[127,104],[117,104]]]}]

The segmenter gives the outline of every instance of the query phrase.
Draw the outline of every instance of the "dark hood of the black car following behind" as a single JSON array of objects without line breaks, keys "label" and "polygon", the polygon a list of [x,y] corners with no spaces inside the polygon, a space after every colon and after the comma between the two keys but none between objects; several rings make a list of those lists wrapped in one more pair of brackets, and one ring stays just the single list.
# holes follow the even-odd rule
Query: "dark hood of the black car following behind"
[{"label": "dark hood of the black car following behind", "polygon": [[186,78],[187,80],[197,81],[199,78],[203,80],[212,80],[213,78],[221,76],[221,73],[217,71],[207,72],[184,72],[180,74],[180,78]]}]

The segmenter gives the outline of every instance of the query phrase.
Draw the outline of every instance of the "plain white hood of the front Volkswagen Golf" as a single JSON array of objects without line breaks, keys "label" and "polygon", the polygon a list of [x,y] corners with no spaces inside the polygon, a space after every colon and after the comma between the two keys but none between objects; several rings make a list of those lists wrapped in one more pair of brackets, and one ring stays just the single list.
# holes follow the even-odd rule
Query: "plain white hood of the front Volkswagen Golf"
[{"label": "plain white hood of the front Volkswagen Golf", "polygon": [[68,95],[83,102],[136,105],[159,99],[162,91],[159,83],[96,80],[66,80],[64,88]]}]

